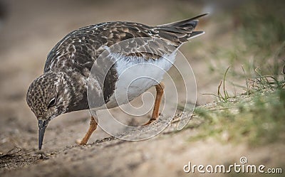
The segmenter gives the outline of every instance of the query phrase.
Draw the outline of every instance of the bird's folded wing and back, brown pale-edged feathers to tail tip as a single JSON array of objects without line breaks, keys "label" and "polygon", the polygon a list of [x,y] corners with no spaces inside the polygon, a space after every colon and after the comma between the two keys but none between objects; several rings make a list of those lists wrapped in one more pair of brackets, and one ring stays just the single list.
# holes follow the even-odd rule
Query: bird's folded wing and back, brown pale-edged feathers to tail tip
[{"label": "bird's folded wing and back, brown pale-edged feathers to tail tip", "polygon": [[[204,15],[206,14],[155,27],[117,21],[80,28],[69,33],[51,50],[44,72],[73,68],[84,75],[84,70],[92,68],[98,56],[106,50],[105,47],[111,46],[115,46],[116,50],[121,49],[123,55],[156,60],[203,33],[193,30],[197,25],[197,18]],[[120,42],[128,39],[135,40],[129,40],[128,46],[120,45]]]}]

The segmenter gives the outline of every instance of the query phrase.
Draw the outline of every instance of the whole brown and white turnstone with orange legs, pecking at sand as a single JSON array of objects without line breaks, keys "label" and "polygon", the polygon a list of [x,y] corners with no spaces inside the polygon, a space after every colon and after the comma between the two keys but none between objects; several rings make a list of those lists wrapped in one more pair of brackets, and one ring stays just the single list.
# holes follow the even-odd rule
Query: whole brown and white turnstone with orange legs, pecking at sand
[{"label": "whole brown and white turnstone with orange legs, pecking at sand", "polygon": [[[140,72],[149,73],[148,77],[155,78],[155,82],[152,79],[145,79],[143,82],[134,83],[132,88],[124,85],[125,80],[128,80],[125,77],[128,76],[120,77],[120,74],[128,67],[143,63],[152,63],[163,70],[169,70],[175,60],[173,54],[175,51],[170,48],[177,49],[190,38],[204,33],[194,31],[198,23],[197,18],[204,15],[206,14],[160,26],[123,21],[99,23],[68,33],[48,53],[43,75],[33,80],[26,95],[26,102],[38,119],[38,149],[41,149],[43,135],[51,119],[63,113],[90,109],[88,104],[90,83],[95,92],[91,97],[95,97],[95,100],[103,100],[103,102],[91,103],[92,108],[95,107],[96,110],[117,107],[130,102],[155,86],[157,91],[155,105],[152,117],[146,124],[154,122],[159,117],[160,102],[165,87],[161,82],[164,72],[153,71],[147,67],[138,68],[138,72],[133,70],[134,75],[137,76],[142,75]],[[106,68],[104,62],[98,61],[103,51],[116,43],[137,38],[138,40],[130,41],[128,46],[124,46],[128,48],[128,53],[123,52],[111,57],[117,57],[118,60],[110,65],[103,81],[100,72],[89,77],[94,68],[95,70]],[[141,48],[147,51],[139,50]],[[108,58],[107,55],[105,57]],[[165,57],[168,59],[165,60]],[[103,57],[103,60],[106,59]],[[120,98],[119,101],[114,96],[115,92]],[[128,92],[128,97],[120,97],[120,92]],[[90,135],[97,128],[95,119],[96,117],[91,116],[90,127],[80,142],[81,145],[87,143]]]}]

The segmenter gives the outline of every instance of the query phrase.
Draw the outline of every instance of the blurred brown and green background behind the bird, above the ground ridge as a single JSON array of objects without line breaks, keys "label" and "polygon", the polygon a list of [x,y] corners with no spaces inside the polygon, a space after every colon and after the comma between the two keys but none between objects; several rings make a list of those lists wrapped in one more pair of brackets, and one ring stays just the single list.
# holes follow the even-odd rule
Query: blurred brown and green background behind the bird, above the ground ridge
[{"label": "blurred brown and green background behind the bird, above the ground ridge", "polygon": [[[229,66],[230,95],[244,92],[245,78],[257,75],[257,68],[264,75],[282,74],[284,9],[282,0],[0,0],[0,153],[14,146],[36,149],[38,127],[26,104],[26,90],[43,73],[48,52],[67,33],[105,21],[155,26],[210,13],[197,26],[206,33],[180,48],[195,73],[197,105],[202,105],[217,100],[211,94],[217,94]],[[86,111],[61,117],[46,132],[45,148],[51,151],[74,144],[88,126]],[[90,141],[105,136],[99,129]]]}]

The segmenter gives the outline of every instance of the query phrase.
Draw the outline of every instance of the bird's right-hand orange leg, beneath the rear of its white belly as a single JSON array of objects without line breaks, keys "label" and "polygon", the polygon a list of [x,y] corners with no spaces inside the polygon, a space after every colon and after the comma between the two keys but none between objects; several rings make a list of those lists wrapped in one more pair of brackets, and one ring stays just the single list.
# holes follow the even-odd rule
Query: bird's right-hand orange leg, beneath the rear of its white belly
[{"label": "bird's right-hand orange leg, beneath the rear of its white belly", "polygon": [[163,90],[165,89],[165,85],[160,82],[160,84],[155,85],[156,89],[156,98],[155,98],[155,106],[153,107],[152,117],[151,119],[144,125],[155,122],[155,120],[160,116],[160,103],[162,100]]}]

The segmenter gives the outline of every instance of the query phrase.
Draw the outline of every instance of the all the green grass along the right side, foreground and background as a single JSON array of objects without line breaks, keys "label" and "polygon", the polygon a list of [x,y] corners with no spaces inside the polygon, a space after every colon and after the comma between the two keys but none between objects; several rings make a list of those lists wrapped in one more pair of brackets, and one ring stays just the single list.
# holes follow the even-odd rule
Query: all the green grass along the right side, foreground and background
[{"label": "all the green grass along the right side, foreground and background", "polygon": [[[190,137],[259,146],[285,140],[285,16],[284,1],[250,1],[237,11],[232,45],[214,44],[209,71],[222,78],[217,103],[197,107],[198,134]],[[234,21],[234,20],[233,20]],[[225,65],[231,67],[225,68]],[[234,84],[244,80],[244,85]],[[229,94],[226,82],[244,92]]]}]

